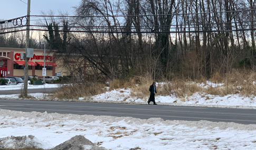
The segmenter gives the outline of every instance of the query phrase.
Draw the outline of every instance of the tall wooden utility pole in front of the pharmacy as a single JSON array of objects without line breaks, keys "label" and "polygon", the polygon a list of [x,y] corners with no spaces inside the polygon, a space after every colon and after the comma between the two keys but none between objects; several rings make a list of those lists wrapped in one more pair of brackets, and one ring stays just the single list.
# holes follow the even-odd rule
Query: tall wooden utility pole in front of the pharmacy
[{"label": "tall wooden utility pole in front of the pharmacy", "polygon": [[24,73],[24,93],[23,93],[24,97],[27,97],[27,78],[29,77],[29,58],[27,58],[27,48],[29,48],[29,43],[30,43],[30,1],[31,0],[27,0],[25,73]]}]

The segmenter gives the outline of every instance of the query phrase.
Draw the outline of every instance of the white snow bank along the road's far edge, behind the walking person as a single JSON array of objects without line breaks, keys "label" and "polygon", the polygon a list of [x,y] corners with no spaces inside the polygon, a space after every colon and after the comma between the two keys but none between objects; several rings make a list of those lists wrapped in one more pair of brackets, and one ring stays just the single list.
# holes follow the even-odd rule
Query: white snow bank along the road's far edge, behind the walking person
[{"label": "white snow bank along the road's far edge, behind the walking person", "polygon": [[[132,103],[147,104],[148,97],[143,99],[132,97],[130,89],[113,89],[110,92],[92,96],[90,101],[112,102],[112,103]],[[155,101],[162,105],[182,105],[182,106],[208,106],[208,107],[230,107],[230,108],[256,108],[255,97],[243,97],[239,94],[217,96],[194,93],[192,96],[177,98],[175,95],[156,95]]]}]

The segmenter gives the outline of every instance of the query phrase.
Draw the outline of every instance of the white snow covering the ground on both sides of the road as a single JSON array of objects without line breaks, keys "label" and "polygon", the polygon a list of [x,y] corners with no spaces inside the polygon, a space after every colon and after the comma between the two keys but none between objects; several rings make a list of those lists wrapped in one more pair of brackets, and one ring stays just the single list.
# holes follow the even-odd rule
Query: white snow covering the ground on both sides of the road
[{"label": "white snow covering the ground on both sides of the road", "polygon": [[[33,88],[34,86],[29,86]],[[58,87],[48,85],[45,87]],[[5,89],[21,87],[5,87]],[[42,88],[35,86],[35,88]],[[4,87],[0,86],[0,90]],[[42,94],[30,94],[40,98]],[[17,98],[18,95],[0,95]],[[79,98],[80,100],[83,97]],[[146,99],[130,96],[130,89],[115,89],[93,96],[93,101],[146,103]],[[175,96],[156,96],[164,105],[256,108],[255,97],[224,97],[195,93],[185,101]],[[1,102],[1,101],[0,101]],[[175,103],[174,103],[175,102]],[[1,103],[0,103],[1,105]],[[138,119],[72,114],[24,113],[0,109],[0,138],[7,136],[36,137],[35,146],[55,147],[75,135],[83,135],[93,143],[112,150],[141,149],[255,149],[256,125],[223,122],[164,121],[160,118]],[[9,147],[12,144],[8,143]]]}]

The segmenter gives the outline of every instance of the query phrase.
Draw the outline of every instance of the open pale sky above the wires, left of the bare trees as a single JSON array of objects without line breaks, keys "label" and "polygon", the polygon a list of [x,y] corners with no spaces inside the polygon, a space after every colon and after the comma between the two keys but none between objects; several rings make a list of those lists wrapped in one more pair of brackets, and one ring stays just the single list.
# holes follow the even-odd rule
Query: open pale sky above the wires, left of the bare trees
[{"label": "open pale sky above the wires, left of the bare trees", "polygon": [[[69,12],[71,15],[74,6],[79,5],[81,0],[31,0],[30,15],[41,15],[41,11],[53,10],[56,15],[58,11]],[[0,20],[13,19],[27,14],[27,0],[0,0]]]}]

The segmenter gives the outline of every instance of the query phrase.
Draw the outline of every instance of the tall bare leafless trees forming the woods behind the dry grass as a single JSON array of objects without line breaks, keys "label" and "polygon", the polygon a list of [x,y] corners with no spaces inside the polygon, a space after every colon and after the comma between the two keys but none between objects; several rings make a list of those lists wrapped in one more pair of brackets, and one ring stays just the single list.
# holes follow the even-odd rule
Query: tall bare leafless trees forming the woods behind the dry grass
[{"label": "tall bare leafless trees forming the woods behind the dry grass", "polygon": [[[70,59],[72,75],[199,79],[256,66],[254,0],[82,0],[75,13],[45,14],[37,38]],[[0,46],[24,46],[4,36]]]}]

